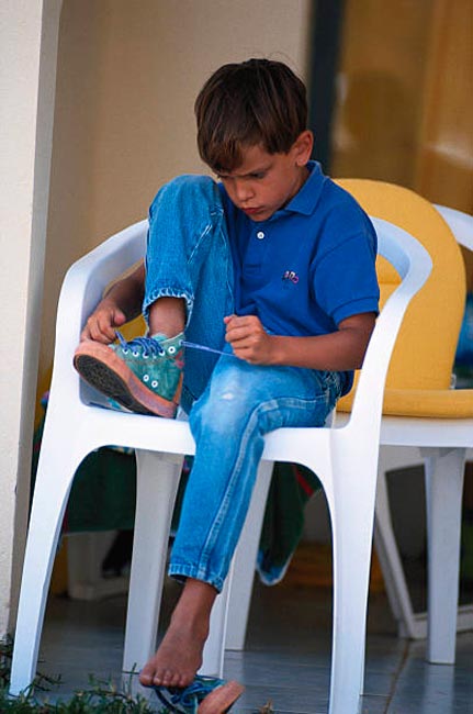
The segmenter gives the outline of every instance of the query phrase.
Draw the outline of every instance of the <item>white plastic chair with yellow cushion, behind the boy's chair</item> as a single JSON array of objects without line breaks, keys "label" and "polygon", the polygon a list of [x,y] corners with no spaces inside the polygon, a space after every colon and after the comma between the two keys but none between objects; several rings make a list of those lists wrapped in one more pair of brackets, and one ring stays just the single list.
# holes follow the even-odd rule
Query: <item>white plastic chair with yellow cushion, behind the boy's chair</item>
[{"label": "white plastic chair with yellow cushion, behind the boy's chair", "polygon": [[[414,191],[368,179],[338,181],[371,216],[415,235],[429,252],[432,272],[409,305],[394,348],[386,379],[381,425],[381,454],[375,511],[375,544],[393,614],[399,631],[409,637],[425,637],[431,662],[453,663],[458,615],[461,495],[465,450],[473,446],[473,390],[451,389],[451,371],[464,305],[465,271],[458,242],[440,210]],[[453,221],[451,210],[443,210]],[[454,212],[459,213],[459,212]],[[463,223],[471,216],[462,214]],[[457,215],[457,221],[461,216]],[[468,245],[463,227],[462,244]],[[460,236],[459,236],[460,239]],[[471,245],[470,245],[471,247]],[[398,277],[379,258],[381,303],[395,289]],[[337,405],[342,424],[353,403],[354,390]],[[393,468],[399,447],[420,448],[426,468],[428,515],[428,627],[424,614],[413,612],[393,534],[385,471]],[[391,448],[395,447],[395,448]],[[405,453],[397,458],[405,466],[419,461]],[[230,592],[227,648],[243,649],[252,565],[263,504],[240,542]],[[249,564],[252,564],[251,566]],[[473,607],[463,607],[462,628],[473,627]]]}]

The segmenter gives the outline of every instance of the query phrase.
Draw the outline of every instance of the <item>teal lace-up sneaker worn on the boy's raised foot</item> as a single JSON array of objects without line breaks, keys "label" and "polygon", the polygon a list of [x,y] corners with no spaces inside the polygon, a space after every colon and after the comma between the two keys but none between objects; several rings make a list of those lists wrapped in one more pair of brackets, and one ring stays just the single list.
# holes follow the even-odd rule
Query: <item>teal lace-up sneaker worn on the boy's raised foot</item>
[{"label": "teal lace-up sneaker worn on the boy's raised foot", "polygon": [[87,339],[74,355],[74,366],[89,384],[113,402],[138,414],[173,419],[179,405],[184,366],[183,334],[136,337],[102,345]]}]

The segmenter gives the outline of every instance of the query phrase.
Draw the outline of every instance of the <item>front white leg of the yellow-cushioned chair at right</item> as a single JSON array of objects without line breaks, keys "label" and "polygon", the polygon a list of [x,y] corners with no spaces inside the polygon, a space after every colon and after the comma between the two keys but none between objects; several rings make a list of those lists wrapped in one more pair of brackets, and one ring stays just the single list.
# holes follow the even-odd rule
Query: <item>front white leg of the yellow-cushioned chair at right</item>
[{"label": "front white leg of the yellow-cushioned chair at right", "polygon": [[465,449],[426,449],[428,537],[427,659],[453,665]]}]

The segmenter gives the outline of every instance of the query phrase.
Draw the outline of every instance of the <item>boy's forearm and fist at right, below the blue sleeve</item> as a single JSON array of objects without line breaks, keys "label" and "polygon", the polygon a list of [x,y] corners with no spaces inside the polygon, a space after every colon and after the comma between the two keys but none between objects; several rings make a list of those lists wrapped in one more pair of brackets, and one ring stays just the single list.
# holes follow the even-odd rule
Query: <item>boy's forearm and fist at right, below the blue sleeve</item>
[{"label": "boy's forearm and fist at right, below the blue sleeve", "polygon": [[374,328],[374,312],[342,320],[338,331],[314,337],[269,335],[255,315],[225,317],[226,341],[234,354],[252,365],[290,365],[344,371],[358,369]]}]

